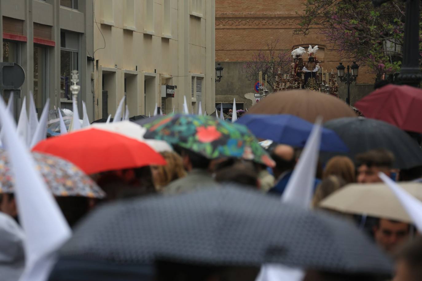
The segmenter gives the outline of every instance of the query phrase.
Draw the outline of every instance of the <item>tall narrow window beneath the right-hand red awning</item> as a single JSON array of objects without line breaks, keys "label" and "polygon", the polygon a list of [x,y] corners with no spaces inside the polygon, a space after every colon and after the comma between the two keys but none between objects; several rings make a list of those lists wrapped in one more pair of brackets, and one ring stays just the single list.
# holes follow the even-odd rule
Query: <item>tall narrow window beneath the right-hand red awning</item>
[{"label": "tall narrow window beneath the right-hand red awning", "polygon": [[34,99],[38,117],[41,116],[47,99],[47,52],[46,47],[34,45]]}]

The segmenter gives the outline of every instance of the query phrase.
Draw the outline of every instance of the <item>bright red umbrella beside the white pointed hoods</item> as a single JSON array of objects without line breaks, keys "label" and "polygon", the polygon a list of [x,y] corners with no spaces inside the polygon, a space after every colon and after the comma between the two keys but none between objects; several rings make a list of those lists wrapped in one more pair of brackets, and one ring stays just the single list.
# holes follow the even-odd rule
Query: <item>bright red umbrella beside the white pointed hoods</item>
[{"label": "bright red umbrella beside the white pointed hoods", "polygon": [[149,145],[94,128],[43,140],[32,150],[64,158],[87,174],[166,164]]}]

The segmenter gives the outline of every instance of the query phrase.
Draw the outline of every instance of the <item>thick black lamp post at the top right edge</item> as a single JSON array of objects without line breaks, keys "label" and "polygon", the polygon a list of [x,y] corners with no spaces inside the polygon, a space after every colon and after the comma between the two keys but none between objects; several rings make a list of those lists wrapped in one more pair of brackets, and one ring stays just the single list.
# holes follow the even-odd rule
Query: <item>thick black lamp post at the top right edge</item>
[{"label": "thick black lamp post at the top right edge", "polygon": [[[390,0],[372,0],[379,6]],[[419,68],[419,6],[420,0],[406,1],[406,21],[404,24],[403,61],[398,81],[400,84],[419,87],[422,73]]]}]

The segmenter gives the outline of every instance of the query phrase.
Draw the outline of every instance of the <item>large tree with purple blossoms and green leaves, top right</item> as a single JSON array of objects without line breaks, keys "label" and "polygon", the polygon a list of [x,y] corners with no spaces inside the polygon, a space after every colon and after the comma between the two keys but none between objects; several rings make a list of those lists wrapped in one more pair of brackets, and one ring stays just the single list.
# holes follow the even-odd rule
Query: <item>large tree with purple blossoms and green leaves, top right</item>
[{"label": "large tree with purple blossoms and green leaves, top right", "polygon": [[[374,7],[371,0],[307,0],[304,12],[298,33],[319,27],[319,33],[342,57],[368,64],[378,77],[400,70],[404,1]],[[421,61],[421,54],[414,59]]]}]

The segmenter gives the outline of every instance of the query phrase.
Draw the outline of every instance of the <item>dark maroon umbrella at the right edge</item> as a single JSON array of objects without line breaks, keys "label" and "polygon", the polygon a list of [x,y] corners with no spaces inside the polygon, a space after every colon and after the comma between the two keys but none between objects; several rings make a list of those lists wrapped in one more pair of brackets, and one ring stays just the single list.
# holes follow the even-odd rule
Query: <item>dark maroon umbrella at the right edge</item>
[{"label": "dark maroon umbrella at the right edge", "polygon": [[387,85],[360,99],[354,106],[365,117],[422,133],[422,90],[419,88]]}]

